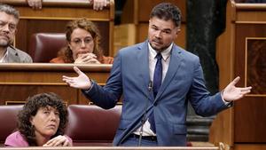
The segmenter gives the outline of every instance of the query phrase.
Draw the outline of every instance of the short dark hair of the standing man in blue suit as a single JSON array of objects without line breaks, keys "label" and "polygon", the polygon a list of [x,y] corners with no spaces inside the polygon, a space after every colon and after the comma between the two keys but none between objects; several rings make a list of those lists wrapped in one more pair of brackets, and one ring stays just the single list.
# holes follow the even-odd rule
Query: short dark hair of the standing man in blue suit
[{"label": "short dark hair of the standing man in blue suit", "polygon": [[157,4],[155,7],[153,7],[150,19],[153,17],[157,17],[160,20],[173,20],[176,27],[179,27],[181,24],[181,12],[175,4]]}]

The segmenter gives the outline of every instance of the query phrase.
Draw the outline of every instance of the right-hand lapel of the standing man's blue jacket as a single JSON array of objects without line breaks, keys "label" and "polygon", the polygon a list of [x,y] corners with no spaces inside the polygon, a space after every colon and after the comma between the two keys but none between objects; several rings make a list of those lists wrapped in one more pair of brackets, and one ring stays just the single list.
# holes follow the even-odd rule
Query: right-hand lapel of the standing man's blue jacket
[{"label": "right-hand lapel of the standing man's blue jacket", "polygon": [[172,51],[171,51],[168,72],[164,78],[163,83],[160,86],[160,90],[158,91],[155,101],[160,98],[160,95],[163,93],[163,91],[167,89],[168,84],[171,83],[173,77],[176,75],[176,71],[180,67],[180,64],[182,61],[181,54],[182,54],[182,51],[176,46],[176,44],[174,44]]}]

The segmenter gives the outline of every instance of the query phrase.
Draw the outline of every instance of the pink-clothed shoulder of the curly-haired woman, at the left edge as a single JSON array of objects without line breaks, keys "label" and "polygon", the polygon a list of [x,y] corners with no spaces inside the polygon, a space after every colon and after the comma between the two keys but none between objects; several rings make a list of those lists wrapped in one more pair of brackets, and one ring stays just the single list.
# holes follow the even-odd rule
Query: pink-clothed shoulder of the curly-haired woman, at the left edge
[{"label": "pink-clothed shoulder of the curly-haired woman, at the left edge", "polygon": [[15,131],[5,139],[4,146],[28,146],[28,144],[20,131]]}]

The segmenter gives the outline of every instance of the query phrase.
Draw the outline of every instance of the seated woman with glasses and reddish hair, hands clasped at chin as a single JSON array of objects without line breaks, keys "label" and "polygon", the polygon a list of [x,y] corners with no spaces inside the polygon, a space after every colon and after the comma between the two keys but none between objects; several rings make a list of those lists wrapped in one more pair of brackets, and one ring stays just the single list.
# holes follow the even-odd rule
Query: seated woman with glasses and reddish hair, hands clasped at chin
[{"label": "seated woman with glasses and reddish hair, hands clasped at chin", "polygon": [[101,50],[97,26],[88,19],[70,21],[66,25],[67,47],[61,49],[51,63],[113,64]]}]

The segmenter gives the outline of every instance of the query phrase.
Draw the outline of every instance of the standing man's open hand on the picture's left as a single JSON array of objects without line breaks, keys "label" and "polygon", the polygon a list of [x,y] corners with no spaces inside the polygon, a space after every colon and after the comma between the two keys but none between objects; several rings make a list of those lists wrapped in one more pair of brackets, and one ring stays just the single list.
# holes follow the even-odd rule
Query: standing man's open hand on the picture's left
[{"label": "standing man's open hand on the picture's left", "polygon": [[89,90],[91,87],[90,78],[82,73],[78,67],[74,67],[74,71],[78,74],[77,77],[63,75],[63,81],[66,82],[70,87]]}]

